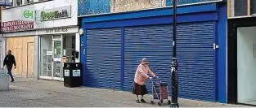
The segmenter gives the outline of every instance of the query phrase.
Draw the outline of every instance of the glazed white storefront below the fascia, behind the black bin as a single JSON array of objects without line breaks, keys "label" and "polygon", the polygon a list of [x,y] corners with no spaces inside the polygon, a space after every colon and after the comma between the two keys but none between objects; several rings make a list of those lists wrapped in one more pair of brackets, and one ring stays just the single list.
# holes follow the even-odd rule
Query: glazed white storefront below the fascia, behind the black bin
[{"label": "glazed white storefront below the fascia, behind the black bin", "polygon": [[63,63],[79,62],[79,27],[47,28],[38,30],[39,78],[63,80]]}]

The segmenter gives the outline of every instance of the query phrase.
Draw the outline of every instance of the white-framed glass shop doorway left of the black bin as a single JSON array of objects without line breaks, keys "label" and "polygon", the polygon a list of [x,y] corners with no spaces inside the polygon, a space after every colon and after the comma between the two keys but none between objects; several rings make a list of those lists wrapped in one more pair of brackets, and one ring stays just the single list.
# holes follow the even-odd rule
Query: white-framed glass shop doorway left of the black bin
[{"label": "white-framed glass shop doorway left of the black bin", "polygon": [[61,35],[41,37],[41,71],[39,78],[47,80],[63,80],[61,72]]}]

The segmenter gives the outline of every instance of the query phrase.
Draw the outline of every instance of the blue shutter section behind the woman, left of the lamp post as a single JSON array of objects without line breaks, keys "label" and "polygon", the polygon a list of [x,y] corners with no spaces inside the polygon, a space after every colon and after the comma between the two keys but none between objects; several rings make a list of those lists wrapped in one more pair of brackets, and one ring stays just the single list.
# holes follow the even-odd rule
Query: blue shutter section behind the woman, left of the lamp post
[{"label": "blue shutter section behind the woman, left of the lamp post", "polygon": [[[134,74],[141,58],[164,83],[171,84],[172,26],[154,25],[124,28],[124,90],[132,91]],[[150,81],[146,88],[151,93]],[[171,86],[168,86],[171,91]]]}]

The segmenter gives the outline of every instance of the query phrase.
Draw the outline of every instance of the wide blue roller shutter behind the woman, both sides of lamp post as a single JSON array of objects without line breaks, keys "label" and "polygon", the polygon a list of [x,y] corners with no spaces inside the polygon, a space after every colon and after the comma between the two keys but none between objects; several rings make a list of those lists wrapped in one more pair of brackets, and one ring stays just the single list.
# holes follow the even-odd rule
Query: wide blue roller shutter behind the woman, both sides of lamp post
[{"label": "wide blue roller shutter behind the woman, both sides of lamp post", "polygon": [[[179,97],[214,102],[213,22],[177,25]],[[124,29],[124,90],[132,91],[134,73],[141,58],[168,83],[171,96],[172,25]],[[146,83],[151,92],[150,81]]]}]

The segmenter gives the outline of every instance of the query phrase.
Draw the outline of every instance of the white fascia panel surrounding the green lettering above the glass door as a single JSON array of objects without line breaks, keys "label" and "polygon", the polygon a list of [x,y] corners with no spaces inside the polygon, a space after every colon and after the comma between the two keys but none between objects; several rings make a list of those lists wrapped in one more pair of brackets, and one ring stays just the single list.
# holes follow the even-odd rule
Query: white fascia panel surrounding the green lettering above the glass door
[{"label": "white fascia panel surrounding the green lettering above the glass door", "polygon": [[38,18],[39,15],[37,15],[36,16],[37,21],[34,28],[53,28],[53,27],[77,25],[78,24],[78,0],[54,0],[54,1],[34,4],[36,11],[53,9],[60,6],[71,6],[71,18],[41,21]]}]

